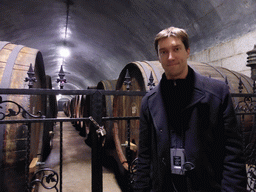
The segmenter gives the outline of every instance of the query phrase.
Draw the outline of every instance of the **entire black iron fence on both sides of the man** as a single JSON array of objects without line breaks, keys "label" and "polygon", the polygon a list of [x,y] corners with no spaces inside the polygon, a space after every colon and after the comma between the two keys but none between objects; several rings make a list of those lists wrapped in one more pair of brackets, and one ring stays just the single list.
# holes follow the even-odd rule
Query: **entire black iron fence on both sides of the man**
[{"label": "entire black iron fence on both sides of the man", "polygon": [[[130,182],[132,183],[136,171],[136,159],[130,157],[130,121],[139,117],[102,117],[102,98],[103,95],[122,95],[122,96],[143,96],[146,92],[141,91],[107,91],[107,90],[48,90],[48,89],[0,89],[0,95],[90,95],[91,108],[93,110],[90,117],[85,118],[46,118],[44,114],[38,112],[36,114],[29,113],[21,104],[15,101],[2,100],[0,104],[12,103],[16,105],[17,110],[9,109],[8,113],[0,112],[0,124],[15,124],[22,123],[27,125],[26,132],[26,159],[25,159],[25,178],[27,191],[32,191],[38,184],[41,184],[47,189],[56,189],[62,191],[62,152],[63,152],[63,122],[72,121],[92,121],[92,191],[101,192],[102,189],[102,144],[104,142],[105,130],[102,127],[103,121],[125,120],[127,121],[127,163],[129,165]],[[243,98],[235,107],[236,115],[239,120],[241,131],[244,138],[244,150],[246,155],[246,163],[248,165],[248,189],[255,191],[256,184],[256,94],[232,94],[232,98]],[[2,108],[2,107],[1,107]],[[23,119],[8,120],[8,117],[22,115]],[[29,166],[30,162],[30,138],[31,125],[33,123],[54,122],[60,124],[60,170],[59,174],[55,170],[49,168],[39,168],[34,172],[33,177],[30,177]],[[3,168],[1,163],[1,167]],[[57,188],[59,184],[59,188]]]}]

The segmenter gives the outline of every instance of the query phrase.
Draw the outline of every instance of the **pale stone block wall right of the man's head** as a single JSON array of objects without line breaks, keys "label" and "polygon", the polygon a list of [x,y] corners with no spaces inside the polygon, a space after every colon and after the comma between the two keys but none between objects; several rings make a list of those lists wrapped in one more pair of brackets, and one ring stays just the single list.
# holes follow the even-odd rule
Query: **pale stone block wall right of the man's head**
[{"label": "pale stone block wall right of the man's head", "polygon": [[221,66],[251,77],[251,68],[246,66],[248,56],[246,52],[252,50],[254,44],[256,44],[256,31],[222,42],[201,52],[192,53],[189,60]]}]

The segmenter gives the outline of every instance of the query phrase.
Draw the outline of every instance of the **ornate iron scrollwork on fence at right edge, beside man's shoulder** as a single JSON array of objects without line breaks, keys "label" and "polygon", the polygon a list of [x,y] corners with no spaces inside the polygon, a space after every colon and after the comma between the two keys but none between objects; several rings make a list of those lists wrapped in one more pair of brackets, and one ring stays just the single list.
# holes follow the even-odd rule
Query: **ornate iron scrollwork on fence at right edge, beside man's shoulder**
[{"label": "ornate iron scrollwork on fence at right edge, beside man's shoulder", "polygon": [[239,101],[235,107],[236,112],[254,113],[256,112],[256,101],[251,97],[244,97],[243,101]]}]

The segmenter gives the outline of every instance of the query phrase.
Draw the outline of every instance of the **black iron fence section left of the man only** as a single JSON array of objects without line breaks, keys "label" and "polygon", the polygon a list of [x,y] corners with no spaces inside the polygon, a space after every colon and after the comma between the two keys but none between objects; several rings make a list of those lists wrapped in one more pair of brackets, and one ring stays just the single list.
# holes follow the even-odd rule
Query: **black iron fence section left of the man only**
[{"label": "black iron fence section left of the man only", "polygon": [[[94,131],[92,134],[92,191],[102,191],[102,143],[104,141],[104,128],[102,125],[103,121],[113,120],[126,120],[129,122],[139,117],[102,117],[102,96],[103,95],[126,95],[126,96],[143,96],[145,92],[138,91],[104,91],[104,90],[47,90],[47,89],[0,89],[0,95],[90,95],[91,96],[91,108],[92,113],[90,117],[85,118],[46,118],[44,114],[38,112],[36,115],[29,113],[24,107],[15,101],[2,100],[0,97],[0,105],[5,103],[12,103],[16,106],[16,110],[8,109],[8,113],[0,112],[0,125],[1,124],[16,124],[21,123],[27,125],[26,131],[26,159],[25,159],[25,178],[27,191],[32,191],[40,183],[46,189],[56,189],[56,191],[62,191],[62,155],[63,155],[63,122],[74,122],[74,121],[92,121],[95,122]],[[2,108],[2,107],[1,107]],[[8,120],[8,117],[21,115],[24,119]],[[59,175],[56,171],[49,168],[42,168],[35,171],[33,177],[29,177],[29,166],[30,162],[30,139],[31,139],[31,125],[33,123],[47,123],[54,122],[60,124],[60,168]],[[130,148],[130,139],[128,134],[128,146]],[[129,155],[127,157],[128,164],[130,165],[131,160]],[[1,168],[4,165],[1,164]],[[59,189],[57,188],[59,184]]]}]

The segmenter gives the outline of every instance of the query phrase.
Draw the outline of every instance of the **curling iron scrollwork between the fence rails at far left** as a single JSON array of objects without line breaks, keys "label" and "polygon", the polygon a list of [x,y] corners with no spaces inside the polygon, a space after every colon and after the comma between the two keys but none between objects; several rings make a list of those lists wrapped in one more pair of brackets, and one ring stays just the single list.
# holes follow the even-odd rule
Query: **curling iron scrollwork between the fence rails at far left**
[{"label": "curling iron scrollwork between the fence rails at far left", "polygon": [[[45,117],[45,116],[42,115],[41,111],[37,112],[38,115],[30,114],[26,109],[24,109],[18,103],[14,102],[14,101],[10,101],[10,100],[3,101],[2,97],[0,96],[0,104],[2,104],[2,103],[13,103],[14,105],[16,105],[18,107],[18,109],[17,109],[17,111],[14,111],[13,109],[8,109],[9,112],[7,114],[5,114],[5,112],[0,111],[0,120],[5,119],[5,117],[17,116],[20,113],[22,114],[22,117],[25,118],[25,119],[27,118],[27,115],[30,116],[30,117],[33,117],[33,118],[44,118]],[[3,107],[0,106],[0,109],[2,109],[2,108]]]}]

